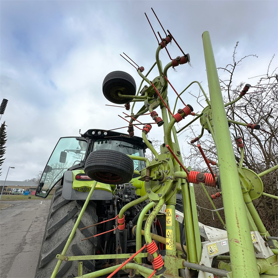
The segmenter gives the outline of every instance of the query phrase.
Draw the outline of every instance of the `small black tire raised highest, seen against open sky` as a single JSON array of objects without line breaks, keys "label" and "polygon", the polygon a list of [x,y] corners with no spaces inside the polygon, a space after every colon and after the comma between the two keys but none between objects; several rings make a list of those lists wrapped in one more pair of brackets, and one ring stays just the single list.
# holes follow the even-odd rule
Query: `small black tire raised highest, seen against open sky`
[{"label": "small black tire raised highest, seen against open sky", "polygon": [[123,95],[135,96],[136,83],[133,77],[127,72],[115,71],[110,72],[105,76],[102,91],[104,96],[116,104],[125,104],[130,102],[133,98],[123,98],[118,96],[118,92]]}]

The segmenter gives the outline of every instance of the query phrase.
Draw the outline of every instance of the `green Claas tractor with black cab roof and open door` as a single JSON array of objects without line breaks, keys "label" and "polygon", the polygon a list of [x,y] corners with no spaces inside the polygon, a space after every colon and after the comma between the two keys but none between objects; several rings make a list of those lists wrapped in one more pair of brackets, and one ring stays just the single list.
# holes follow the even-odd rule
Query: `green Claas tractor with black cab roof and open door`
[{"label": "green Claas tractor with black cab roof and open door", "polygon": [[[49,277],[56,265],[56,255],[64,246],[92,188],[93,179],[100,180],[90,197],[85,215],[70,246],[71,255],[103,254],[113,249],[117,253],[132,253],[135,239],[132,228],[144,201],[127,211],[129,229],[116,236],[107,233],[97,238],[83,238],[103,233],[115,227],[110,221],[80,231],[80,228],[109,220],[120,209],[139,197],[145,196],[144,182],[139,180],[145,168],[144,153],[147,145],[142,138],[114,131],[89,129],[80,137],[63,137],[58,141],[47,162],[36,196],[47,197],[54,191],[47,219],[36,277]],[[134,160],[130,158],[134,157]],[[136,160],[138,156],[138,160]],[[56,186],[55,186],[56,185]],[[59,185],[59,186],[57,186]],[[132,224],[131,224],[132,223]],[[109,265],[109,260],[95,266],[93,260],[84,261],[85,270],[93,271]],[[76,261],[65,262],[57,277],[78,274]]]}]

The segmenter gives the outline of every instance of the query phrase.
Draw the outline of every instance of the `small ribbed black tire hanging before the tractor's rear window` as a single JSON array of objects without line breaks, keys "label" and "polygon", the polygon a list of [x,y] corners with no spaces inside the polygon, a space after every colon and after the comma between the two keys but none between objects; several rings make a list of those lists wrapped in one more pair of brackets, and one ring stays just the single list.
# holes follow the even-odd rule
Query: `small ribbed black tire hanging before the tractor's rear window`
[{"label": "small ribbed black tire hanging before the tractor's rear window", "polygon": [[133,177],[133,160],[120,151],[98,150],[89,154],[85,173],[98,182],[107,184],[122,184]]}]

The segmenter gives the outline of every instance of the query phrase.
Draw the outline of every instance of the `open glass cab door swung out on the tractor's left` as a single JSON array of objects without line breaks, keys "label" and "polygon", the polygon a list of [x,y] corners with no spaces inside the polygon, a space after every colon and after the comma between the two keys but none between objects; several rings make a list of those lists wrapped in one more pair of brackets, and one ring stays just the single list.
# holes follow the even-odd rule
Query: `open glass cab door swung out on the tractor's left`
[{"label": "open glass cab door swung out on the tractor's left", "polygon": [[46,197],[67,169],[84,160],[86,149],[87,141],[60,138],[43,171],[36,195]]}]

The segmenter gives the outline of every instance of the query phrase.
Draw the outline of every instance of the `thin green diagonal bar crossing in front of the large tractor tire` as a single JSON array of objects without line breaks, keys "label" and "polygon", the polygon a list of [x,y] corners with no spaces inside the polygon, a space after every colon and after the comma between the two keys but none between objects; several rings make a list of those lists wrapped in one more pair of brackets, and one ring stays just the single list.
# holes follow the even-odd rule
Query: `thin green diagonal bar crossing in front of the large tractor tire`
[{"label": "thin green diagonal bar crossing in front of the large tractor tire", "polygon": [[[75,222],[75,224],[73,226],[73,229],[72,229],[72,232],[69,235],[69,238],[67,239],[66,245],[65,245],[61,255],[66,255],[67,249],[69,248],[69,244],[72,242],[72,239],[73,239],[73,237],[75,235],[76,229],[78,228],[80,220],[81,220],[81,218],[82,218],[82,216],[83,216],[83,214],[84,214],[84,212],[86,210],[86,207],[87,207],[87,205],[88,205],[88,203],[89,203],[89,201],[90,201],[90,199],[92,197],[92,194],[93,194],[93,192],[94,192],[94,190],[96,188],[96,184],[97,183],[98,183],[97,181],[94,181],[94,183],[92,185],[92,188],[91,188],[91,190],[90,190],[90,192],[88,194],[88,197],[87,197],[87,199],[86,199],[86,201],[85,201],[85,203],[84,203],[84,205],[83,205],[83,207],[82,207],[82,209],[81,209],[81,211],[80,211],[80,213],[78,215],[78,218],[77,218],[77,220],[76,220],[76,222]],[[52,272],[51,278],[55,278],[56,277],[57,272],[59,270],[59,267],[61,266],[61,263],[62,263],[62,260],[58,259],[57,264],[56,264],[56,266],[55,266],[55,268],[54,268],[54,270]]]}]

